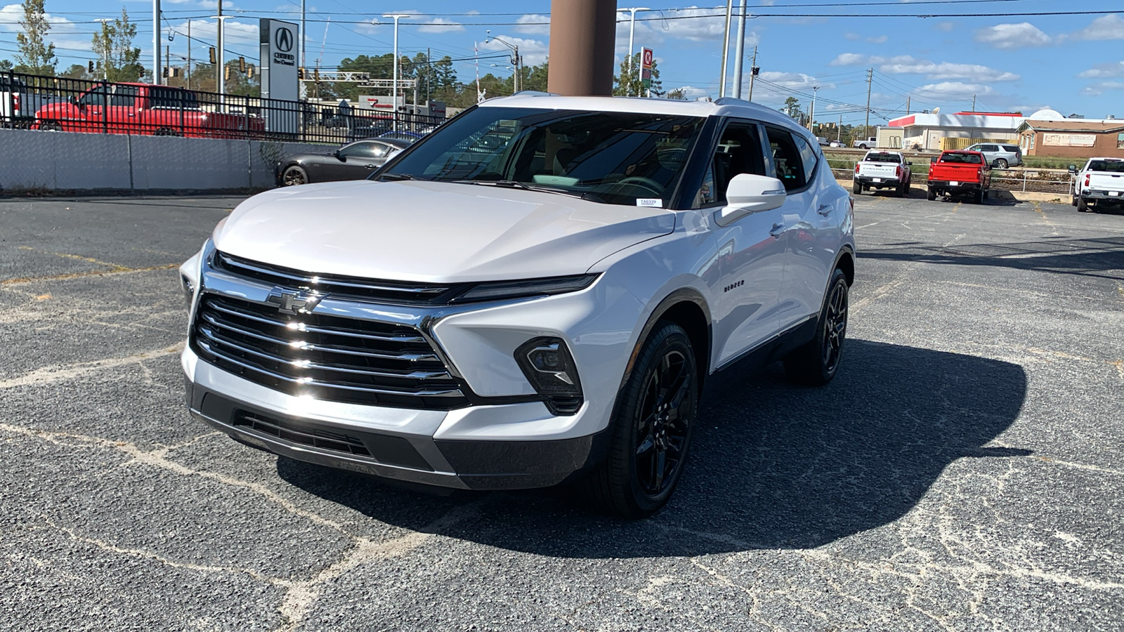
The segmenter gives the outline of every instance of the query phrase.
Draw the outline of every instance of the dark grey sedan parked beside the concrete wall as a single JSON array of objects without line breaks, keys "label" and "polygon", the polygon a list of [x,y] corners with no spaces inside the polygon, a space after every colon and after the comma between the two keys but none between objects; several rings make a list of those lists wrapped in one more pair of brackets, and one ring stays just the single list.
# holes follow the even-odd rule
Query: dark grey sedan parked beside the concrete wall
[{"label": "dark grey sedan parked beside the concrete wall", "polygon": [[386,164],[391,156],[410,146],[410,143],[398,138],[379,138],[357,141],[327,154],[288,155],[278,162],[278,186],[362,180]]}]

